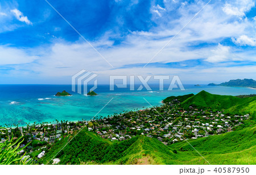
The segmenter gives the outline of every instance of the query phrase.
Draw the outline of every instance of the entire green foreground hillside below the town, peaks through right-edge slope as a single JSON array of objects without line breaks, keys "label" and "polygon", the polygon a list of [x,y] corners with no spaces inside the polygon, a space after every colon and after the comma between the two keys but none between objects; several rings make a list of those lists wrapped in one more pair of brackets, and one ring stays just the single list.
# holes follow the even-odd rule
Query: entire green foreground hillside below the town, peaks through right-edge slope
[{"label": "entire green foreground hillside below the town, peaks through right-edge slope", "polygon": [[[255,134],[251,127],[188,141],[210,164],[256,164]],[[47,164],[68,139],[53,145],[39,163]],[[183,141],[167,147],[142,135],[113,143],[82,130],[55,158],[60,164],[207,164],[191,145]]]}]

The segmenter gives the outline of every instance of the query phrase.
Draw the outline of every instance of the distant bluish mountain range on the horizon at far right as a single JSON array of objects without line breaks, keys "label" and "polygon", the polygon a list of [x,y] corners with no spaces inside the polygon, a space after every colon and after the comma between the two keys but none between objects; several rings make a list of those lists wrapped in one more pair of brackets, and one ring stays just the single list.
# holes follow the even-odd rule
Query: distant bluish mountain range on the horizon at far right
[{"label": "distant bluish mountain range on the horizon at far right", "polygon": [[230,80],[229,82],[222,82],[222,84],[208,84],[208,86],[232,86],[232,87],[254,87],[256,88],[256,81],[253,79],[237,79],[237,80]]}]

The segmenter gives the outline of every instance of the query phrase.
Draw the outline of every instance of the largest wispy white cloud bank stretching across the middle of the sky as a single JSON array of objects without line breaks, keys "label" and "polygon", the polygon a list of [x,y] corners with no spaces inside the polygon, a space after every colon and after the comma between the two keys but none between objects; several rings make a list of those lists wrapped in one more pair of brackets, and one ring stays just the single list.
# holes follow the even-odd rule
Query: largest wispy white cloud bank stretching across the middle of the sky
[{"label": "largest wispy white cloud bank stretching across the middle of the sky", "polygon": [[[244,44],[246,39],[247,44],[250,43],[250,40],[255,41],[249,37],[245,37],[246,39],[241,38],[243,35],[253,36],[252,32],[255,32],[255,28],[252,24],[254,22],[250,22],[250,20],[234,21],[234,16],[223,15],[221,8],[216,9],[215,7],[217,5],[214,6],[210,3],[151,62],[164,64],[167,62],[204,59],[211,63],[218,63],[220,68],[205,69],[201,68],[201,65],[195,65],[200,68],[174,69],[152,68],[152,66],[148,65],[146,68],[142,69],[142,66],[144,66],[144,64],[146,64],[146,62],[149,61],[205,4],[203,1],[200,2],[201,3],[195,5],[189,4],[180,6],[179,10],[177,10],[177,16],[168,15],[168,12],[173,10],[173,7],[164,5],[164,9],[158,5],[152,6],[151,12],[156,16],[157,25],[150,31],[131,32],[119,45],[114,45],[114,37],[112,37],[118,34],[113,34],[111,31],[106,32],[106,34],[97,41],[90,41],[93,47],[114,66],[114,69],[82,39],[69,43],[54,38],[53,41],[56,44],[49,45],[44,48],[43,51],[40,50],[42,48],[34,48],[34,54],[32,55],[35,57],[27,55],[22,49],[19,49],[19,51],[16,49],[7,50],[7,47],[5,47],[6,53],[3,52],[3,49],[2,51],[0,49],[0,62],[3,64],[30,64],[29,69],[38,73],[40,76],[46,77],[44,78],[45,80],[52,77],[69,78],[81,69],[90,70],[100,74],[100,76],[108,76],[109,74],[179,74],[185,78],[187,77],[187,80],[189,80],[189,78],[196,80],[198,76],[193,79],[195,74],[204,74],[207,80],[209,74],[214,74],[215,76],[213,76],[213,78],[216,78],[216,74],[220,72],[223,74],[226,71],[227,74],[225,74],[225,76],[228,76],[228,73],[233,74],[233,72],[231,72],[232,68],[227,69],[225,66],[232,65],[234,59],[248,62],[256,61],[256,51],[242,50],[236,53],[236,46],[229,47],[218,44],[226,38],[236,38],[234,41],[236,41],[237,44]],[[234,5],[230,6],[234,7]],[[237,6],[237,8],[238,13],[245,11],[240,10],[239,6]],[[166,14],[162,15],[163,13]],[[158,18],[160,15],[164,16],[164,18]],[[200,46],[200,44],[203,44],[203,47]],[[216,46],[214,44],[218,45]],[[5,55],[9,53],[10,55],[1,57],[2,53],[5,53]],[[12,54],[13,56],[11,56]],[[40,55],[40,57],[36,57],[36,55]],[[142,66],[131,67],[133,64],[141,64]],[[240,72],[249,74],[251,71],[254,71],[252,68],[249,71],[249,69],[243,68],[243,66],[241,67],[241,69],[236,69],[234,72],[237,74]],[[24,66],[20,65],[20,69],[24,69]],[[61,78],[56,79],[61,80]],[[67,80],[68,81],[65,83],[69,83],[70,79]]]}]

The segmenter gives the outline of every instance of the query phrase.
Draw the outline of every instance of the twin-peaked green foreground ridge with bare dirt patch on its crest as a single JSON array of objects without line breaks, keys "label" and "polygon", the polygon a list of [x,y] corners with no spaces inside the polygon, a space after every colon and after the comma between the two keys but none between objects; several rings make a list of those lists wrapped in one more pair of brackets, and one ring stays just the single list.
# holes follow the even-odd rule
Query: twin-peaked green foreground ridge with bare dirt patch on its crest
[{"label": "twin-peaked green foreground ridge with bare dirt patch on its crest", "polygon": [[[39,163],[47,164],[70,139],[54,144]],[[166,145],[146,136],[113,143],[82,130],[55,158],[61,160],[60,164],[166,164],[163,157],[173,156]]]}]

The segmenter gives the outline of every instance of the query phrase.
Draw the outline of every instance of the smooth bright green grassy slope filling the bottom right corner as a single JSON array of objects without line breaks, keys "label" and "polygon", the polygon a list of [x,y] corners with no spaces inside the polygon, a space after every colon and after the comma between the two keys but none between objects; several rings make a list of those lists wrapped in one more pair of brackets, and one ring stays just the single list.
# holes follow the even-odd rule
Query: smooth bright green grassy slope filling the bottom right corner
[{"label": "smooth bright green grassy slope filling the bottom right corner", "polygon": [[[256,164],[255,134],[256,126],[188,141],[210,164]],[[205,164],[203,157],[198,156],[191,145],[183,141],[169,147],[177,150],[178,159],[188,159],[186,164]]]}]

